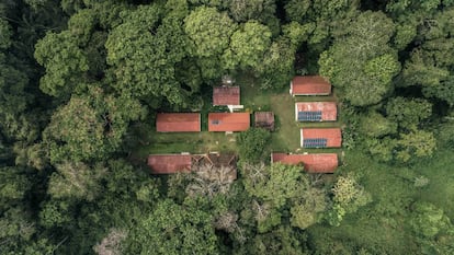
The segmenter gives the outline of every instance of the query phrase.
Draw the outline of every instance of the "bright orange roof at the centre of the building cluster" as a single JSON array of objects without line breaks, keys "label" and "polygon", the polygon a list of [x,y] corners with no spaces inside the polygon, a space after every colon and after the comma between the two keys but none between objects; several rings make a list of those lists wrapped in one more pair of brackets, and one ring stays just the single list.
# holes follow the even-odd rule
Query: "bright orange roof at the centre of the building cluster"
[{"label": "bright orange roof at the centre of the building cluster", "polygon": [[249,113],[208,114],[208,131],[246,131],[249,126]]}]

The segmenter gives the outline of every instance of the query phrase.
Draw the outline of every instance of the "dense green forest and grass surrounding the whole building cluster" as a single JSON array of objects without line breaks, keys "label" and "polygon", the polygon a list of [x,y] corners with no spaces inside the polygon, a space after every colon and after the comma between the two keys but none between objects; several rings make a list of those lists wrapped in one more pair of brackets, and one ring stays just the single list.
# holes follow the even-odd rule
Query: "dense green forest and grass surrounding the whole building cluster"
[{"label": "dense green forest and grass surrounding the whole building cluster", "polygon": [[[1,0],[0,65],[0,254],[454,254],[453,0]],[[235,182],[150,174],[225,74],[329,79],[338,171],[250,129]]]}]

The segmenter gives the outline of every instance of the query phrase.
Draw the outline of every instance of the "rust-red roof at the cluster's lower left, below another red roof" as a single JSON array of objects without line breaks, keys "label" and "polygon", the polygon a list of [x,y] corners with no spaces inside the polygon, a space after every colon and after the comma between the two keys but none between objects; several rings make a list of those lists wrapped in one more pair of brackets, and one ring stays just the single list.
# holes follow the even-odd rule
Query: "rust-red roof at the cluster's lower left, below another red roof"
[{"label": "rust-red roof at the cluster's lower left, below another red roof", "polygon": [[148,157],[148,165],[154,174],[173,174],[191,172],[189,154],[154,154]]}]

